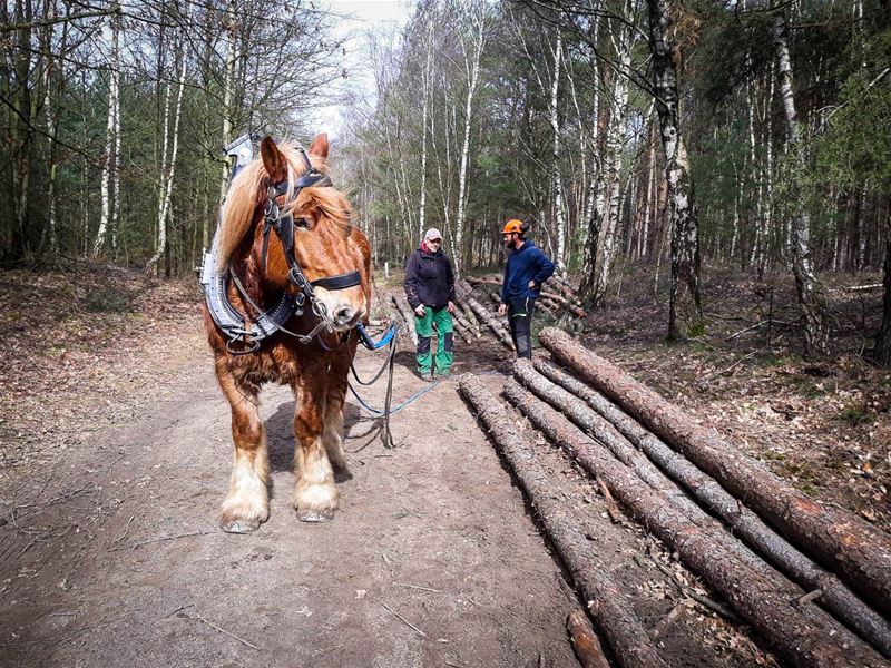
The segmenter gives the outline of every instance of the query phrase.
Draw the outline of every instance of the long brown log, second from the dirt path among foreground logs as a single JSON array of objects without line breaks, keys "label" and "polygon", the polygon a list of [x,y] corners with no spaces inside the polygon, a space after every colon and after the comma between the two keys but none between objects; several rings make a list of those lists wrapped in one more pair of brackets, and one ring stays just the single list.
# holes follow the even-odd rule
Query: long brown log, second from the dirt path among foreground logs
[{"label": "long brown log, second from the dirt path among foreground logs", "polygon": [[516,381],[505,385],[505,395],[554,443],[604,480],[626,509],[675,550],[682,562],[725,597],[793,665],[889,666],[820,608],[813,605],[799,608],[794,599],[801,598],[800,588],[767,564],[756,569],[740,559],[736,549],[730,548],[735,542],[730,534],[692,522],[665,494],[647,487],[603,445],[532,397]]}]

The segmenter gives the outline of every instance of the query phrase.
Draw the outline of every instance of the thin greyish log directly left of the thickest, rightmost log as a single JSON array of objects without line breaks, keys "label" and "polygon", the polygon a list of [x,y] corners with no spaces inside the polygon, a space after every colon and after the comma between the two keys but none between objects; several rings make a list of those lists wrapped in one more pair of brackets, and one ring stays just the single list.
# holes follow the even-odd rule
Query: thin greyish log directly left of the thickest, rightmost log
[{"label": "thin greyish log directly left of the thickest, rightmost log", "polygon": [[672,480],[682,484],[699,503],[726,522],[734,536],[805,590],[821,590],[817,598],[820,605],[860,633],[885,658],[891,658],[891,623],[858,598],[838,577],[795,549],[713,478],[668,448],[604,395],[544,360],[536,360],[532,365],[597,411]]}]

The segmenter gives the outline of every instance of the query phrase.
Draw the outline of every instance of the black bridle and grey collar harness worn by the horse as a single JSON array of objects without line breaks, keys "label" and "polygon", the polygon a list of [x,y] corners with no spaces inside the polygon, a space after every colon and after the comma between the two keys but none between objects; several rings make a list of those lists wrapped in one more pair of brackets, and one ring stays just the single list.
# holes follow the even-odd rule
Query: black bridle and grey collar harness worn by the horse
[{"label": "black bridle and grey collar harness worn by the horse", "polygon": [[[327,308],[316,296],[315,288],[321,287],[332,291],[346,289],[362,284],[362,278],[358,269],[345,274],[310,281],[306,278],[303,268],[297,262],[294,254],[294,228],[297,225],[297,220],[303,222],[305,225],[305,219],[298,218],[295,220],[290,210],[283,213],[283,209],[287,209],[287,205],[296,200],[303,188],[333,187],[331,178],[313,167],[306,151],[303,148],[298,150],[306,166],[306,171],[294,183],[291,199],[280,208],[277,204],[278,197],[285,196],[288,191],[286,178],[280,183],[270,185],[266,189],[266,203],[263,209],[263,252],[261,258],[261,266],[265,271],[270,233],[274,229],[282,244],[288,265],[288,281],[297,287],[297,293],[295,295],[285,293],[275,306],[270,310],[264,310],[255,304],[247,294],[247,291],[235,274],[232,265],[229,265],[225,272],[216,273],[214,271],[216,266],[216,253],[213,249],[209,253],[205,253],[204,264],[202,266],[202,285],[205,288],[205,299],[214,322],[227,336],[226,350],[233,355],[245,355],[257,351],[261,341],[272,336],[276,332],[294,336],[303,345],[310,344],[323,330],[333,332],[332,322],[327,315]],[[242,298],[251,304],[257,312],[256,317],[248,318],[229,303],[227,297],[227,278],[229,277],[238,289]],[[319,318],[316,325],[309,334],[297,334],[286,328],[284,325],[291,317],[300,317],[303,315],[307,302],[313,314]],[[247,325],[248,322],[251,322],[249,326]],[[327,347],[321,338],[319,338],[319,342],[323,347]]]}]

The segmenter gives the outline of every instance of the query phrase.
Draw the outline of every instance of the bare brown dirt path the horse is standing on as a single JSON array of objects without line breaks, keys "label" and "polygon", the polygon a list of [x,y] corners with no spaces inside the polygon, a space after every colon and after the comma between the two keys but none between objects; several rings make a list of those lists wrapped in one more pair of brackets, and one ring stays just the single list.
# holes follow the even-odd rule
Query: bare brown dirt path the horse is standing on
[{"label": "bare brown dirt path the horse is standing on", "polygon": [[[0,529],[4,665],[575,664],[574,595],[454,381],[393,420],[398,450],[370,440],[350,402],[354,478],[323,525],[290,507],[293,399],[265,390],[272,514],[232,536],[215,524],[228,409],[206,353],[192,357],[169,399],[146,396],[133,422],[14,494]],[[365,375],[380,360],[360,357]],[[396,365],[396,399],[422,386]],[[368,401],[382,405],[383,386]]]}]

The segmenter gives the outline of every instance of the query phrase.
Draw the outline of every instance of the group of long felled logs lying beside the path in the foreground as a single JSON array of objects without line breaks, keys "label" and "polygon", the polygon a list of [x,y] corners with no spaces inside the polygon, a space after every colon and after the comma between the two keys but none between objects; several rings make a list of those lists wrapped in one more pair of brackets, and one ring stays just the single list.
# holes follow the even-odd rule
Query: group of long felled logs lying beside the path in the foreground
[{"label": "group of long felled logs lying beside the path in the foreground", "polygon": [[[574,375],[520,360],[505,386],[511,406],[792,665],[889,666],[891,537],[794,490],[565,332],[546,328],[540,341]],[[555,546],[619,662],[660,665],[658,656],[639,658],[652,647],[640,649],[634,613],[614,609],[625,600],[610,595],[615,583],[589,581],[596,556],[578,547],[584,537],[548,493],[547,474],[515,434],[510,413],[476,379],[462,377],[460,387],[546,529],[559,534]],[[628,658],[630,644],[637,650]]]}]

